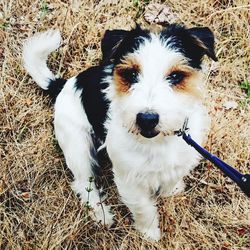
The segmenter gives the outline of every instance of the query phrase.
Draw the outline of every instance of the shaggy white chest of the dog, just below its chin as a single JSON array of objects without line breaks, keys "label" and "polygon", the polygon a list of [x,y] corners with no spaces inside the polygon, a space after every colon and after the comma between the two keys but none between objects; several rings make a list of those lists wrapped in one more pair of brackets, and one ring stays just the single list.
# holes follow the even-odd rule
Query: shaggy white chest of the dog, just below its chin
[{"label": "shaggy white chest of the dog, just below its chin", "polygon": [[107,151],[115,174],[140,182],[178,179],[188,172],[195,158],[177,137],[145,144],[108,133]]}]

